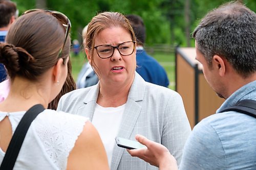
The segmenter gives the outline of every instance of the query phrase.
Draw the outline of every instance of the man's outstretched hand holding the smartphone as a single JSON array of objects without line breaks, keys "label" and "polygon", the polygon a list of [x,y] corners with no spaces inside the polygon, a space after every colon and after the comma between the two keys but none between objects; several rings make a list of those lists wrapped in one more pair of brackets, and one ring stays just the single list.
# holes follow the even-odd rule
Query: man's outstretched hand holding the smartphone
[{"label": "man's outstretched hand holding the smartphone", "polygon": [[178,169],[176,159],[164,145],[149,140],[142,135],[136,135],[135,138],[147,148],[127,150],[130,155],[143,159],[151,165],[159,167],[161,170]]}]

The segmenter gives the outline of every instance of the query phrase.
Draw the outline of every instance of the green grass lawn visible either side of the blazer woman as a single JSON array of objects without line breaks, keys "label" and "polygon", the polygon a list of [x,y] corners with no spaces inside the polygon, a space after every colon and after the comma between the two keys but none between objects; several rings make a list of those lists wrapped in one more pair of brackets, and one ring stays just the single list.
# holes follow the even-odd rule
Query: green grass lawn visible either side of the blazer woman
[{"label": "green grass lawn visible either side of the blazer woman", "polygon": [[[175,56],[173,53],[154,53],[150,54],[154,57],[165,69],[169,79],[169,88],[175,89]],[[83,63],[87,62],[86,54],[80,52],[78,56],[74,56],[71,53],[71,63],[72,63],[72,74],[76,81],[79,71]]]}]

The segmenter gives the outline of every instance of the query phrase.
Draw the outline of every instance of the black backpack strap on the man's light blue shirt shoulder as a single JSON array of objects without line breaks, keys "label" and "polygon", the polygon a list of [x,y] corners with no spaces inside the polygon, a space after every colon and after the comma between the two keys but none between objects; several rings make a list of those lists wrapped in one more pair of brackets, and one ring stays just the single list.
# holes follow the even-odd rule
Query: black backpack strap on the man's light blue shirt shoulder
[{"label": "black backpack strap on the man's light blue shirt shoulder", "polygon": [[236,103],[234,106],[221,110],[220,113],[227,111],[236,111],[256,118],[256,101],[242,100]]}]

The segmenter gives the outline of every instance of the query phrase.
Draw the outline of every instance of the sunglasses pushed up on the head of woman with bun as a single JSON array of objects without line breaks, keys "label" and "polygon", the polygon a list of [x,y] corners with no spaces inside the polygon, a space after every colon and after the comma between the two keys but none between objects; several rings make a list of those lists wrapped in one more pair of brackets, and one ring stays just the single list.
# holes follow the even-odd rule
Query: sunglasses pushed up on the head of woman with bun
[{"label": "sunglasses pushed up on the head of woman with bun", "polygon": [[66,41],[68,39],[68,35],[69,35],[69,32],[70,32],[70,29],[71,29],[71,22],[70,22],[69,18],[65,14],[63,14],[61,12],[51,11],[51,10],[42,10],[42,9],[30,9],[30,10],[25,11],[22,15],[25,15],[25,14],[28,14],[28,13],[31,13],[31,12],[35,12],[35,11],[46,11],[46,12],[49,12],[52,16],[57,18],[62,23],[63,27],[66,28],[65,39],[64,39],[63,45],[60,48],[59,53],[58,53],[58,58],[59,58],[59,56],[61,55],[62,50],[63,50],[63,48],[64,48],[64,46],[66,44]]}]

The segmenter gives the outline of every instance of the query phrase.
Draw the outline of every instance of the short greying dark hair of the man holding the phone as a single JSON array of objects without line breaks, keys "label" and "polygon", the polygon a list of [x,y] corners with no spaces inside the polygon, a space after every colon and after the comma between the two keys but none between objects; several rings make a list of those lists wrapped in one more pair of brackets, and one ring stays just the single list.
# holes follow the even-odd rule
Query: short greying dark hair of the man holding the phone
[{"label": "short greying dark hair of the man holding the phone", "polygon": [[245,78],[256,72],[256,14],[243,4],[231,2],[211,11],[193,37],[209,66],[219,55]]}]

